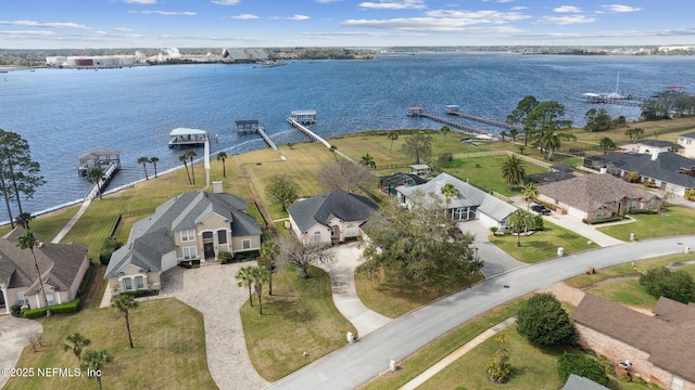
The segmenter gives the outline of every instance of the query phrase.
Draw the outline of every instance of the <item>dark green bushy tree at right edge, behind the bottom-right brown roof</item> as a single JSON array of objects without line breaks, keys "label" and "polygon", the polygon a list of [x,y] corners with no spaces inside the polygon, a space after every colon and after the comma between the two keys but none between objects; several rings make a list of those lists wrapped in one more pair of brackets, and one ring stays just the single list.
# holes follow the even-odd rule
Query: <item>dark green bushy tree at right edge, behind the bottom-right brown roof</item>
[{"label": "dark green bushy tree at right edge, behind the bottom-right brown roof", "polygon": [[640,276],[640,284],[655,298],[664,296],[681,303],[695,302],[695,282],[686,271],[656,268]]}]

